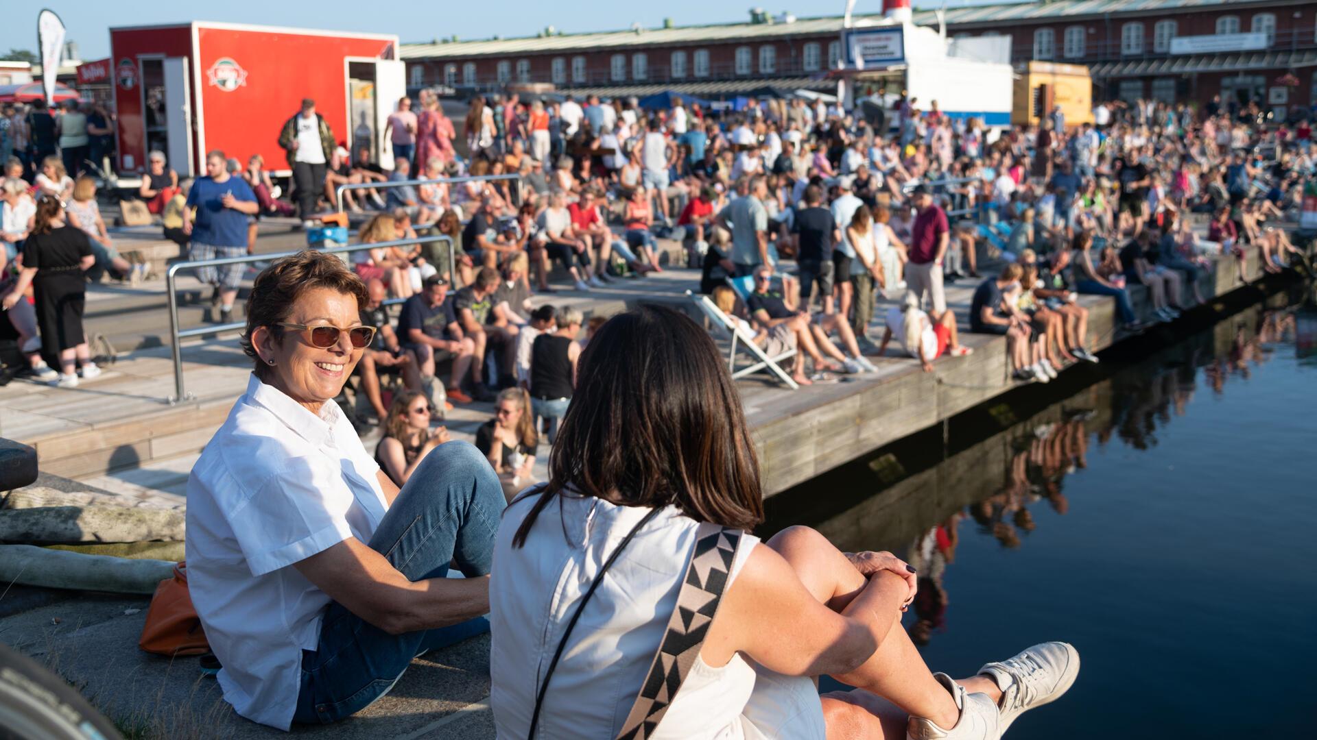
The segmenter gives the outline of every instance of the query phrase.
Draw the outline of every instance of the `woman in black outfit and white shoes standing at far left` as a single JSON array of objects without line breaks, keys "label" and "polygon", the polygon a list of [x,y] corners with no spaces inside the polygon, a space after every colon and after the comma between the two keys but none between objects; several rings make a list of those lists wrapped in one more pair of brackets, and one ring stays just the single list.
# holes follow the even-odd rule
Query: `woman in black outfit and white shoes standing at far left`
[{"label": "woman in black outfit and white shoes standing at far left", "polygon": [[87,300],[83,273],[95,263],[91,240],[82,229],[68,225],[63,201],[53,195],[41,196],[32,233],[22,245],[18,282],[0,305],[5,311],[13,308],[32,286],[41,345],[47,357],[59,361],[59,378],[53,383],[61,388],[78,387],[79,369],[84,379],[100,375],[100,367],[91,361],[82,324]]}]

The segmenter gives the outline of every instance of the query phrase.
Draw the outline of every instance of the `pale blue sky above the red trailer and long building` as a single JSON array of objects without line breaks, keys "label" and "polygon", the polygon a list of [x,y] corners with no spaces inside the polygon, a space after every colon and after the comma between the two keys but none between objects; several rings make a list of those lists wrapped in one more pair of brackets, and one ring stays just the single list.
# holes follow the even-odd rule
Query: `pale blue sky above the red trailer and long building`
[{"label": "pale blue sky above the red trailer and long building", "polygon": [[[948,7],[979,5],[984,0],[948,0]],[[915,0],[917,7],[936,7],[935,0]],[[362,13],[361,8],[371,9]],[[470,3],[440,0],[428,3],[361,3],[360,0],[315,0],[306,3],[271,3],[269,0],[225,0],[220,4],[115,1],[115,0],[4,0],[0,11],[0,53],[12,47],[37,49],[37,12],[45,7],[59,13],[68,28],[68,38],[78,42],[83,59],[109,55],[111,26],[155,25],[179,21],[228,21],[262,25],[319,28],[396,33],[403,42],[429,41],[457,34],[458,38],[489,38],[500,34],[532,36],[548,25],[562,32],[590,32],[630,28],[639,22],[647,28],[662,25],[670,17],[677,25],[743,21],[751,7],[763,7],[777,14],[790,11],[798,16],[840,14],[843,0],[826,3],[790,0],[664,0],[618,3],[616,0],[576,0],[544,3],[543,0],[487,0]],[[569,12],[564,9],[570,8]],[[877,12],[881,0],[860,0],[857,12]],[[312,14],[308,11],[313,9]]]}]

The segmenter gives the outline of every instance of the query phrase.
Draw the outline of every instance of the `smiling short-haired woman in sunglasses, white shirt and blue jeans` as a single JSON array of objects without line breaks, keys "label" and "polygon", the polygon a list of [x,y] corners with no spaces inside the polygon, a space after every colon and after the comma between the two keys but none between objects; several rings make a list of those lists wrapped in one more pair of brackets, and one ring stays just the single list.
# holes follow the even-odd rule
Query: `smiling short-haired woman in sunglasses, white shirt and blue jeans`
[{"label": "smiling short-haired woman in sunglasses, white shirt and blue jeans", "polygon": [[366,299],[323,253],[257,277],[255,370],[187,485],[188,586],[224,698],[281,729],[348,716],[415,656],[489,628],[504,499],[485,456],[445,442],[399,490],[333,400],[375,330]]}]

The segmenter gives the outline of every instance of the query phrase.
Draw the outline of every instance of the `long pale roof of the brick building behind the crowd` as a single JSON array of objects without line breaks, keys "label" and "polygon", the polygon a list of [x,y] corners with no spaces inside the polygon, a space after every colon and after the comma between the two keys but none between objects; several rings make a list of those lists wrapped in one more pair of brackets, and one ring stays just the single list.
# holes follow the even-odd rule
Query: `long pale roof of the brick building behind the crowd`
[{"label": "long pale roof of the brick building behind the crowd", "polygon": [[[1173,11],[1179,13],[1197,8],[1218,5],[1280,4],[1285,0],[1052,0],[1035,3],[1004,3],[998,5],[972,5],[948,8],[947,25],[973,26],[996,25],[1019,21],[1039,21],[1047,18],[1102,17],[1110,14],[1158,13]],[[855,25],[881,21],[880,13],[855,14]],[[915,11],[914,22],[934,25],[938,22],[934,11]],[[842,16],[795,18],[793,22],[734,22],[707,24],[639,30],[612,30],[598,33],[572,33],[556,36],[529,36],[522,38],[450,41],[432,43],[403,43],[403,59],[444,59],[470,57],[508,57],[515,54],[545,54],[553,51],[577,51],[595,49],[622,49],[633,46],[662,46],[689,43],[716,43],[734,41],[769,40],[790,36],[838,34],[842,32]]]}]

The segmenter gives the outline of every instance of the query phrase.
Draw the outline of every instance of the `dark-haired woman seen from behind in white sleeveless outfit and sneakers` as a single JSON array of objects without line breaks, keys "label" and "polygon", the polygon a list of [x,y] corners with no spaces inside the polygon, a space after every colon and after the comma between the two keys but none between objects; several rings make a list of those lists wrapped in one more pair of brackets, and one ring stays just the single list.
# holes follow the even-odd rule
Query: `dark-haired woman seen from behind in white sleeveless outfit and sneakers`
[{"label": "dark-haired woman seen from behind in white sleeveless outfit and sneakers", "polygon": [[[499,737],[632,736],[644,722],[651,740],[996,740],[1077,678],[1065,643],[959,681],[931,673],[901,627],[914,568],[807,527],[751,535],[755,441],[716,345],[684,313],[614,316],[579,369],[549,482],[508,504],[494,544]],[[680,598],[699,598],[680,607],[694,621],[673,618]],[[824,674],[856,689],[819,697]]]}]

